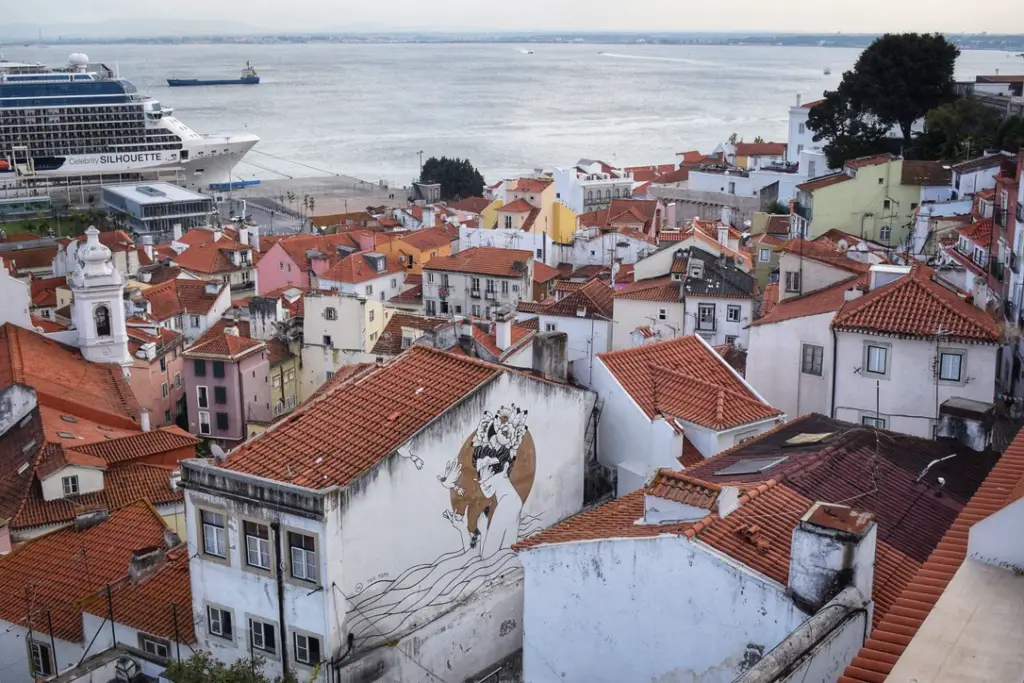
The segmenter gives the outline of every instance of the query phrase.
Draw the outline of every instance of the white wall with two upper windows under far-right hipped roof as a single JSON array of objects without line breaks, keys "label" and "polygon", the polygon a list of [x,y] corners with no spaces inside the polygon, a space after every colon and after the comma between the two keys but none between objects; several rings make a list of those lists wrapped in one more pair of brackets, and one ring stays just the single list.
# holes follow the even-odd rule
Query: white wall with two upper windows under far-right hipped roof
[{"label": "white wall with two upper windows under far-right hipped roof", "polygon": [[[838,332],[837,339],[835,415],[839,420],[859,424],[864,417],[873,418],[878,383],[878,411],[886,420],[886,427],[932,438],[938,409],[947,398],[962,396],[988,403],[995,395],[997,346],[940,342],[938,347],[965,354],[963,377],[967,381],[952,383],[936,382],[935,341],[850,332]],[[864,347],[868,342],[889,346],[888,376],[869,375],[863,370]]]}]

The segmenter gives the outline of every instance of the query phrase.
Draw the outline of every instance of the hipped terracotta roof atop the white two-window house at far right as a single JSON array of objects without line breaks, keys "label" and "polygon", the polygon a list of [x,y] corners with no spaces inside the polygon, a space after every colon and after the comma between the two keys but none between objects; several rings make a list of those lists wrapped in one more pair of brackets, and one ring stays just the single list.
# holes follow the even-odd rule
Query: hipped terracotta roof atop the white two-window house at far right
[{"label": "hipped terracotta roof atop the white two-window house at far right", "polygon": [[1002,335],[985,311],[934,282],[935,271],[914,263],[910,273],[847,302],[833,318],[837,330],[998,343]]}]

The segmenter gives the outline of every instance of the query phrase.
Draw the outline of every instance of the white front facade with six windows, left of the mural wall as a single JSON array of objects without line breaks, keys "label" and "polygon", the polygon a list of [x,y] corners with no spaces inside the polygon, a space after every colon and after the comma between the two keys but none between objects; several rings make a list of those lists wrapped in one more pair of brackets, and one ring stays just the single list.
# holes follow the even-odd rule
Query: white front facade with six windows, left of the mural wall
[{"label": "white front facade with six windows, left of the mural wall", "polygon": [[[227,561],[220,562],[203,554],[203,537],[199,532],[200,521],[198,510],[209,509],[226,515],[227,522]],[[250,656],[249,648],[249,616],[269,622],[276,627],[278,650],[275,657],[267,657],[266,671],[273,676],[282,674],[281,649],[281,613],[278,604],[276,579],[265,573],[249,570],[246,566],[245,532],[243,520],[250,519],[264,524],[270,524],[280,519],[282,528],[295,529],[313,536],[318,549],[325,549],[326,529],[322,521],[307,519],[298,515],[276,510],[261,508],[254,504],[228,501],[196,490],[185,490],[185,521],[189,528],[197,529],[188,536],[188,565],[193,594],[193,618],[196,620],[196,637],[199,647],[207,650],[222,661],[234,661]],[[272,541],[271,532],[271,541]],[[287,540],[283,543],[287,551]],[[271,566],[276,565],[276,555],[271,544]],[[318,552],[317,560],[319,577],[327,577],[328,553]],[[292,651],[292,630],[316,634],[321,637],[322,656],[330,655],[331,633],[328,622],[328,603],[332,600],[331,585],[321,582],[323,589],[315,591],[315,586],[288,579],[284,582],[285,590],[285,636],[289,646],[289,660],[294,665]],[[206,608],[215,605],[231,612],[233,638],[225,640],[210,634],[207,625]],[[116,612],[115,612],[116,613]],[[257,654],[262,654],[257,651]],[[303,671],[301,668],[300,671]],[[305,677],[309,672],[303,671]],[[326,674],[321,673],[321,679],[326,680]]]}]

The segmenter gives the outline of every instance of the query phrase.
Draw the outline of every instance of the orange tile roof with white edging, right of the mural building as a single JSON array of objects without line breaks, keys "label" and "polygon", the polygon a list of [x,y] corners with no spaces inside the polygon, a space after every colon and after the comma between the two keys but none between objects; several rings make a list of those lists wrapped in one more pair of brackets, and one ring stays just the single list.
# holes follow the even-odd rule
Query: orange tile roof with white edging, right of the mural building
[{"label": "orange tile roof with white edging, right of the mural building", "polygon": [[668,414],[706,426],[738,425],[779,415],[758,400],[721,356],[693,335],[597,357],[651,420]]}]

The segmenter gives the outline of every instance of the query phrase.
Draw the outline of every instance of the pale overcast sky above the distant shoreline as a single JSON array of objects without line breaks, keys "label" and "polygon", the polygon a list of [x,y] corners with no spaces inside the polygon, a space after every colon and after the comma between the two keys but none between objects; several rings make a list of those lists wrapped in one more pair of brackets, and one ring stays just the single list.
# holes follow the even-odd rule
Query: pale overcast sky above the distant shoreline
[{"label": "pale overcast sky above the distant shoreline", "polygon": [[[4,23],[61,26],[144,22],[225,24],[258,31],[744,31],[794,33],[1022,33],[1021,0],[986,0],[965,11],[942,0],[2,0]],[[59,17],[55,19],[55,17]],[[54,27],[60,28],[60,27]]]}]

